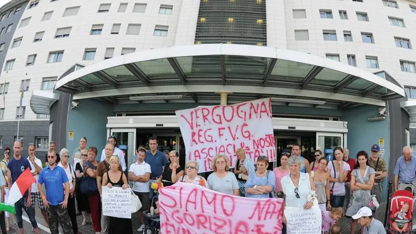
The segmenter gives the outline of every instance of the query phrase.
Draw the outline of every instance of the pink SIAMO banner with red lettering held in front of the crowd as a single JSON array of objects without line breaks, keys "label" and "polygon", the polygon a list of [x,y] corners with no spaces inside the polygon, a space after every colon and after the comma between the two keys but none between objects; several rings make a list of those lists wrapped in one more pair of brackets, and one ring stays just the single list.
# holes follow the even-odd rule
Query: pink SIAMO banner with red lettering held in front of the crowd
[{"label": "pink SIAMO banner with red lettering held in front of the crowd", "polygon": [[159,189],[160,233],[281,234],[283,199],[232,196],[177,182]]}]

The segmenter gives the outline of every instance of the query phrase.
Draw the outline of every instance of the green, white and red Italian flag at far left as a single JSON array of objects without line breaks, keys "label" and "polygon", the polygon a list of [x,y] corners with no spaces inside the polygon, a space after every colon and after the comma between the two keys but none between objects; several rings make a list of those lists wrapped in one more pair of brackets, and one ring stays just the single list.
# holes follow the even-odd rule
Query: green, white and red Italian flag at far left
[{"label": "green, white and red Italian flag at far left", "polygon": [[[8,201],[7,203],[0,203],[0,210],[15,214],[14,203],[23,197],[33,183],[36,183],[36,179],[33,177],[32,173],[30,173],[29,168],[27,168],[16,181],[14,181],[10,188]],[[30,197],[28,199],[30,199]]]}]

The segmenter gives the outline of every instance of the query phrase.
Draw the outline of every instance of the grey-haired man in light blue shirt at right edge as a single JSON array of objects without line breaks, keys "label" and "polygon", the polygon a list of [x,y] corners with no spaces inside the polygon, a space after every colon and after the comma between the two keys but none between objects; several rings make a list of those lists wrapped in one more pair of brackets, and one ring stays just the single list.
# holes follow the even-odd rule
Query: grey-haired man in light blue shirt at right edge
[{"label": "grey-haired man in light blue shirt at right edge", "polygon": [[394,191],[411,187],[412,192],[415,193],[416,157],[412,155],[412,148],[409,146],[403,148],[403,155],[397,160],[393,174]]}]

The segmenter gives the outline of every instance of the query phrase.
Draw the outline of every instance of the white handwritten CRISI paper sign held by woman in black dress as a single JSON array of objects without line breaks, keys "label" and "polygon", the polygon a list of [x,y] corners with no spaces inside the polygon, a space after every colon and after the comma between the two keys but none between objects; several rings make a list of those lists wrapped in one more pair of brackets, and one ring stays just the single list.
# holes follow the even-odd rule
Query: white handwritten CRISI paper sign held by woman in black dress
[{"label": "white handwritten CRISI paper sign held by woman in black dress", "polygon": [[103,215],[131,219],[131,189],[107,186],[103,190]]}]

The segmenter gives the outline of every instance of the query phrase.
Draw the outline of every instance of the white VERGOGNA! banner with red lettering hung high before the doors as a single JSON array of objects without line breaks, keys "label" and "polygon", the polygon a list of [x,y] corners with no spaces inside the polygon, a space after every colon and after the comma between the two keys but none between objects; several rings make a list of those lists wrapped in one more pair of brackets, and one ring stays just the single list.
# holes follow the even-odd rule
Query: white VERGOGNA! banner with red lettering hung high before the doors
[{"label": "white VERGOGNA! banner with red lettering hung high before the doors", "polygon": [[217,154],[226,155],[231,168],[235,150],[243,148],[254,162],[265,155],[276,161],[270,98],[231,106],[200,106],[176,111],[186,149],[186,161],[199,163],[199,173],[212,171]]}]

